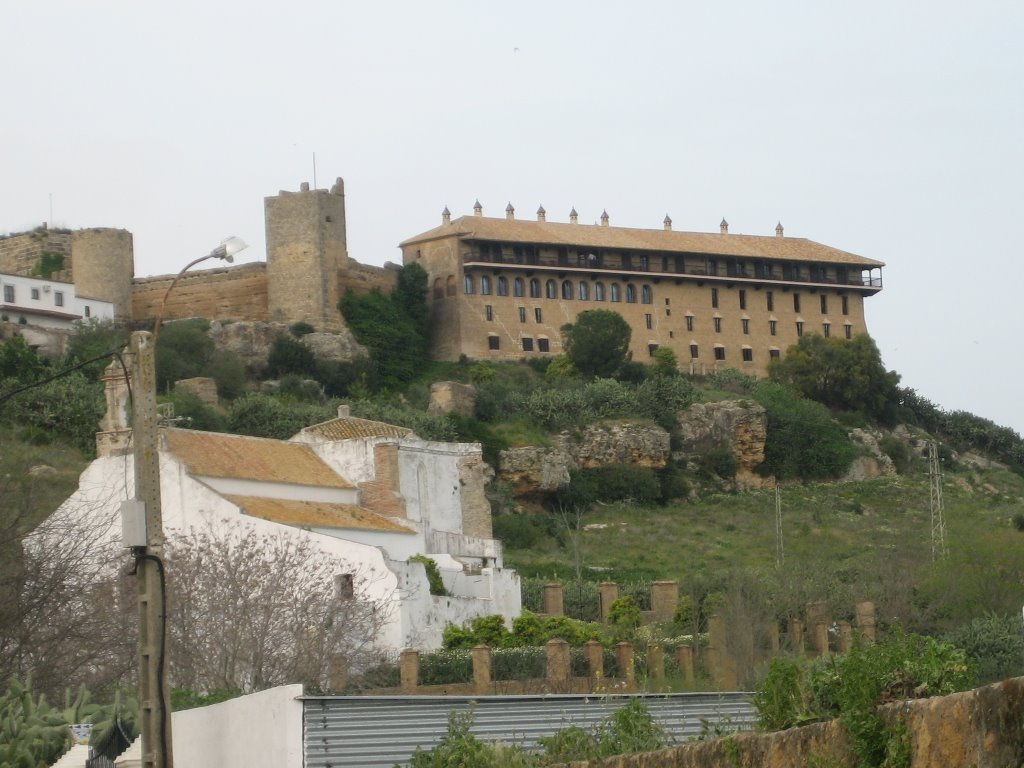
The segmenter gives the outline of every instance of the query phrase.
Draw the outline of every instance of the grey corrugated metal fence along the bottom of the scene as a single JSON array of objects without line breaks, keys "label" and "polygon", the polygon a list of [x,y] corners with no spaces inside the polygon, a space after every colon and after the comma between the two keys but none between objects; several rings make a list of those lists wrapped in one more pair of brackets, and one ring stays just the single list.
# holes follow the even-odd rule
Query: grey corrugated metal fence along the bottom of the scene
[{"label": "grey corrugated metal fence along the bottom of the scene", "polygon": [[[750,730],[748,693],[639,694],[674,742],[716,725]],[[430,749],[447,730],[449,713],[473,710],[472,732],[484,741],[524,748],[578,725],[589,729],[633,696],[305,696],[306,768],[406,765],[417,746]]]}]

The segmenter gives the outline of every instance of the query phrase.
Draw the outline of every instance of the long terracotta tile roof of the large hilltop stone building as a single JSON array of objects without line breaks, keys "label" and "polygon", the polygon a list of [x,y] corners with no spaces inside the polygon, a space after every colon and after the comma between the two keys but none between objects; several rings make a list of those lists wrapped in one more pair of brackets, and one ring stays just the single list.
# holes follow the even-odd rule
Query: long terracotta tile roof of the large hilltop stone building
[{"label": "long terracotta tile roof of the large hilltop stone building", "polygon": [[463,240],[492,240],[504,243],[583,246],[662,253],[700,253],[714,256],[855,264],[865,267],[885,266],[882,261],[823,246],[803,238],[634,229],[625,226],[564,224],[555,221],[510,221],[485,216],[461,216],[451,224],[441,224],[434,229],[402,241],[399,245],[413,245],[453,234]]}]

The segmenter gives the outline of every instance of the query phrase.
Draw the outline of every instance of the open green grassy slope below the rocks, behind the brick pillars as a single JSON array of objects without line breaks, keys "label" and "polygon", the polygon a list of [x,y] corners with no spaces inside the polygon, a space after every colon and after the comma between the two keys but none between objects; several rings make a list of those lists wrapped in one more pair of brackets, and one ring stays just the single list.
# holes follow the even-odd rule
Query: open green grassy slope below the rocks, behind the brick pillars
[{"label": "open green grassy slope below the rocks, behind the brick pillars", "polygon": [[[986,611],[1015,613],[1024,602],[1024,478],[957,469],[943,488],[948,555],[934,565],[928,478],[914,472],[784,485],[781,564],[774,490],[667,507],[597,505],[582,519],[584,578],[676,579],[695,601],[740,599],[779,617],[809,601],[843,613],[871,599],[880,618],[931,632]],[[561,521],[552,534],[506,546],[506,563],[526,577],[573,579],[573,536]]]}]

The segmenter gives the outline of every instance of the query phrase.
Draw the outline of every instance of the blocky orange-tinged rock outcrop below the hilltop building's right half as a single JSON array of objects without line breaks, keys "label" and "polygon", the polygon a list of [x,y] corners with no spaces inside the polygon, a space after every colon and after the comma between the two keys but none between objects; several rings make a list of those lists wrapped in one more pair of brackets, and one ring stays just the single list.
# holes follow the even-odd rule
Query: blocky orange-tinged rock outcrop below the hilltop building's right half
[{"label": "blocky orange-tinged rock outcrop below the hilltop building's right half", "polygon": [[692,459],[712,451],[728,451],[736,458],[736,485],[756,488],[773,484],[754,474],[765,460],[768,416],[753,400],[696,402],[678,416],[682,444],[676,457]]}]

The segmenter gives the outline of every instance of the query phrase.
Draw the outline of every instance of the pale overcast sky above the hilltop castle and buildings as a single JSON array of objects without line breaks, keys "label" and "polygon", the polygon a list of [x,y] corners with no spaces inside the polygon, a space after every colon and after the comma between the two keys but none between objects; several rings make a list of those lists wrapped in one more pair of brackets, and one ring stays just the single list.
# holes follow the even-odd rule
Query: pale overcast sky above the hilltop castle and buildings
[{"label": "pale overcast sky above the hilltop castle and buildings", "polygon": [[885,261],[904,384],[1024,431],[1024,4],[0,0],[0,232],[135,238],[137,274],[346,182],[353,258],[508,202]]}]

